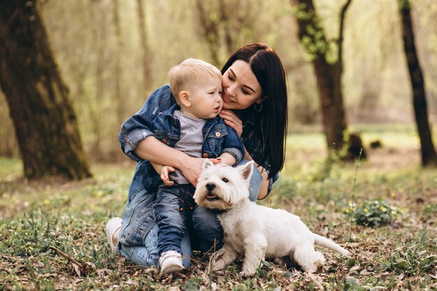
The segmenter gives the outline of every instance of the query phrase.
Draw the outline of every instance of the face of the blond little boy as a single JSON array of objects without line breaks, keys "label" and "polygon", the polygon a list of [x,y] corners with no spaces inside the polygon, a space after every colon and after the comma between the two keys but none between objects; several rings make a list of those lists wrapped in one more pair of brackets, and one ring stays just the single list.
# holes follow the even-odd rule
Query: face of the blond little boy
[{"label": "face of the blond little boy", "polygon": [[213,119],[223,107],[221,98],[221,78],[206,77],[186,90],[191,106],[184,108],[184,113],[201,119]]}]

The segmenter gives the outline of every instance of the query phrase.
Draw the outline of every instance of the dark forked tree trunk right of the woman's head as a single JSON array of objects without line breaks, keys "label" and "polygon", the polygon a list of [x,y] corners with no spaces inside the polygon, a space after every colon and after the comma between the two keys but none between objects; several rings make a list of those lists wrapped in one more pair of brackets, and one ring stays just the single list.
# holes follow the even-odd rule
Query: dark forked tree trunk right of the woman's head
[{"label": "dark forked tree trunk right of the woman's head", "polygon": [[304,50],[313,57],[313,67],[316,72],[320,106],[323,117],[323,128],[328,149],[339,150],[345,143],[346,114],[341,91],[341,75],[343,73],[342,42],[343,19],[350,0],[341,10],[340,33],[338,39],[338,56],[336,61],[328,61],[329,43],[325,31],[320,24],[312,0],[292,0],[298,6],[298,34]]}]

